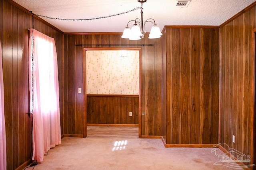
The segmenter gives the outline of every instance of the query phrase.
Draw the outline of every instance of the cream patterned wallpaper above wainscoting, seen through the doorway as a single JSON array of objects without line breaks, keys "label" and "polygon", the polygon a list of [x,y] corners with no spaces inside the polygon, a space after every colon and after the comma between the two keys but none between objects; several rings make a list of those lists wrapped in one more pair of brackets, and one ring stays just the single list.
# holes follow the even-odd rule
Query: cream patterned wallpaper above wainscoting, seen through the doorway
[{"label": "cream patterned wallpaper above wainscoting, seen through the doorway", "polygon": [[86,51],[87,94],[139,94],[139,51]]}]

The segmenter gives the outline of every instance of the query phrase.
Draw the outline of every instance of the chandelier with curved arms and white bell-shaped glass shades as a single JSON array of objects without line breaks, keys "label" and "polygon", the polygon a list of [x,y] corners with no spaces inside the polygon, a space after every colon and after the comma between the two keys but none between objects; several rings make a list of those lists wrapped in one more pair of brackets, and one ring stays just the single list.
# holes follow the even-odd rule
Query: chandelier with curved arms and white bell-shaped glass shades
[{"label": "chandelier with curved arms and white bell-shaped glass shades", "polygon": [[124,29],[123,35],[121,38],[127,38],[130,40],[139,40],[144,38],[144,33],[146,33],[145,31],[145,24],[147,22],[151,22],[153,24],[150,34],[149,34],[149,39],[154,39],[154,38],[160,38],[161,35],[163,35],[160,31],[160,28],[156,25],[156,21],[152,18],[147,19],[144,23],[143,23],[143,3],[146,2],[147,0],[138,0],[138,2],[141,3],[141,20],[139,18],[136,18],[135,20],[131,20],[134,21],[134,24],[132,26],[132,29],[130,29],[130,27],[128,27],[128,24],[131,22],[129,21],[127,23],[126,28]]}]

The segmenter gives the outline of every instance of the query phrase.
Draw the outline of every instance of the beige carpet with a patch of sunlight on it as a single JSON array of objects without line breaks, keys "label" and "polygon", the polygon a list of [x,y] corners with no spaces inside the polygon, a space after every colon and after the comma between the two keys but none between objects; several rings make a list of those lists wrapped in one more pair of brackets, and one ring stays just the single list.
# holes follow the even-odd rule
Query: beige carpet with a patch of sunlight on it
[{"label": "beige carpet with a patch of sunlight on it", "polygon": [[[227,170],[212,148],[165,148],[161,139],[64,137],[34,170]],[[223,154],[217,149],[218,154]],[[26,168],[32,170],[33,167]]]}]

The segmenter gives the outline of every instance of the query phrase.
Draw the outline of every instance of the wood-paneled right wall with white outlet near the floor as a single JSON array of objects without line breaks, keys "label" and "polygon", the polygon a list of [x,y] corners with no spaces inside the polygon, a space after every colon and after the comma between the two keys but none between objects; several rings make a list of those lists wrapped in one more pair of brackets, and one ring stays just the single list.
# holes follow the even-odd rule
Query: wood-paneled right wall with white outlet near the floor
[{"label": "wood-paneled right wall with white outlet near the floor", "polygon": [[220,28],[220,142],[251,155],[251,160],[255,160],[252,135],[255,19],[254,6]]}]

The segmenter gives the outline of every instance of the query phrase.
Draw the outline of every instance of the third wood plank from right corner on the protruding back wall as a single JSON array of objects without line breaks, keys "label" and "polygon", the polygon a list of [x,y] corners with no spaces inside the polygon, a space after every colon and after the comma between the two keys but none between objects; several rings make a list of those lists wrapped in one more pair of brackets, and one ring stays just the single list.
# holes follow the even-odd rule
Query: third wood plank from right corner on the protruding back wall
[{"label": "third wood plank from right corner on the protruding back wall", "polygon": [[200,28],[191,28],[191,135],[190,143],[199,143],[200,122]]}]

